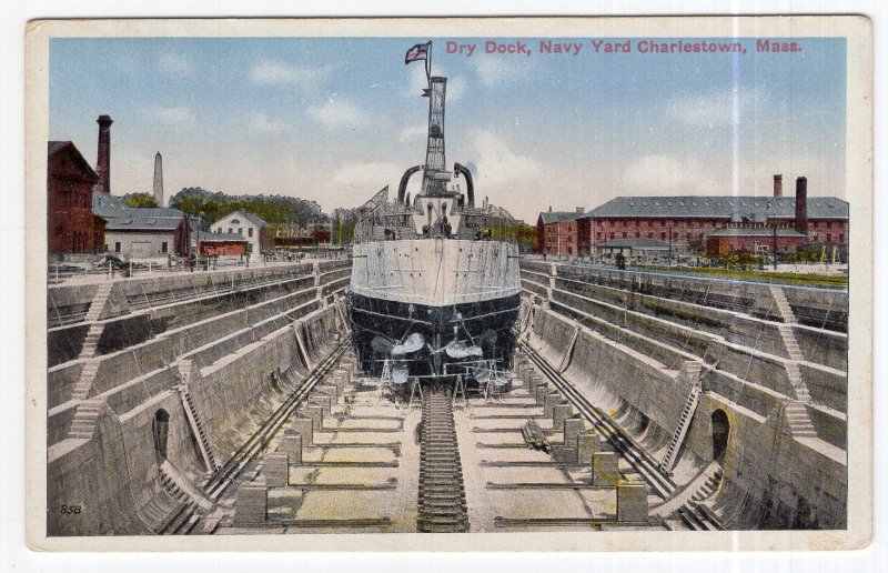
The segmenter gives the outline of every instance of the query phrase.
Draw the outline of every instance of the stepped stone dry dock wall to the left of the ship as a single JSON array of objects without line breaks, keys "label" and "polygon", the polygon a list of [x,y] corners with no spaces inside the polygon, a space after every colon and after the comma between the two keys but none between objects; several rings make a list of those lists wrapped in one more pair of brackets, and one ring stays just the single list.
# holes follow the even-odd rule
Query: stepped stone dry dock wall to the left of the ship
[{"label": "stepped stone dry dock wall to the left of the ship", "polygon": [[[262,302],[245,309],[99,356],[97,383],[87,401],[100,404],[92,438],[69,435],[78,406],[84,403],[69,392],[82,361],[57,368],[50,398],[56,405],[50,405],[48,419],[48,534],[158,532],[186,504],[196,503],[172,495],[160,469],[165,460],[191,484],[209,475],[179,386],[186,384],[206,445],[216,463],[224,463],[283,403],[294,390],[293,381],[307,373],[295,331],[311,341],[306,351],[314,363],[334,348],[334,334],[343,326],[336,305],[342,304],[339,296],[347,282],[342,280],[343,271],[347,278],[347,264],[307,265],[312,271],[307,294],[303,289],[271,301],[259,296]],[[290,279],[278,275],[268,288],[274,290],[273,282]],[[157,286],[158,292],[167,291]],[[199,289],[194,299],[203,293]],[[179,302],[186,309],[188,299]],[[63,513],[62,506],[80,511]]]}]

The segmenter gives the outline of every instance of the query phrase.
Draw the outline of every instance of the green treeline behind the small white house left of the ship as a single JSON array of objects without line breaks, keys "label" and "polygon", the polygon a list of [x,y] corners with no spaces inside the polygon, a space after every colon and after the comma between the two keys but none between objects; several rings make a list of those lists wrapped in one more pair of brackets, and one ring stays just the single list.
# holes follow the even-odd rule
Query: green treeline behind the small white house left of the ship
[{"label": "green treeline behind the small white house left of the ship", "polygon": [[284,195],[229,195],[199,187],[182,189],[170,199],[170,207],[208,222],[218,221],[238,210],[256,214],[271,225],[307,227],[329,221],[327,215],[321,212],[321,205],[314,201]]}]

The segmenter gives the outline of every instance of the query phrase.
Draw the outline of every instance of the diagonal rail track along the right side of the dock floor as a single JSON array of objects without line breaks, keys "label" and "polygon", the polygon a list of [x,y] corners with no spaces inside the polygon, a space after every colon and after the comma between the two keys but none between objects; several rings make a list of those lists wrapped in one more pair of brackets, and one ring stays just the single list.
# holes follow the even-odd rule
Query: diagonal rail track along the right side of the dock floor
[{"label": "diagonal rail track along the right side of the dock floor", "polygon": [[[678,485],[665,474],[656,460],[652,459],[647,452],[638,445],[632,438],[629,438],[623,429],[620,429],[607,414],[599,408],[596,408],[583,395],[574,385],[565,379],[557,369],[552,366],[545,358],[537,351],[529,346],[526,342],[519,343],[522,352],[524,352],[533,363],[542,371],[542,373],[558,389],[558,391],[569,400],[574,408],[576,408],[581,415],[585,418],[592,425],[604,435],[614,450],[619,453],[633,469],[638,472],[644,480],[650,484],[654,491],[663,497],[668,500],[678,490]],[[686,525],[694,530],[699,531],[714,531],[723,530],[724,526],[719,522],[717,515],[702,504],[694,501],[688,501],[682,506],[678,516]]]}]

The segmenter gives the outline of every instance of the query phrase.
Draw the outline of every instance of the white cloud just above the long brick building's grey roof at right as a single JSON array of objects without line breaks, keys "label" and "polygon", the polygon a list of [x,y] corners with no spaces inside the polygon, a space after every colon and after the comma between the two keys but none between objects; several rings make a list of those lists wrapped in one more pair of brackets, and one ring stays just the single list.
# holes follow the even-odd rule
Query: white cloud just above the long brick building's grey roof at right
[{"label": "white cloud just above the long brick building's grey roof at right", "polygon": [[722,194],[725,183],[696,158],[645,155],[629,163],[623,172],[628,194]]}]

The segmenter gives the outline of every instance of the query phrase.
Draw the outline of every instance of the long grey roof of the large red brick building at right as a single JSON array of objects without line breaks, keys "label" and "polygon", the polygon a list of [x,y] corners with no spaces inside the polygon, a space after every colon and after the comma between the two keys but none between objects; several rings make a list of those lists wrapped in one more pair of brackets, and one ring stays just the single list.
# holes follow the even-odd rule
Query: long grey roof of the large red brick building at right
[{"label": "long grey roof of the large red brick building at right", "polygon": [[[848,203],[835,197],[808,197],[809,219],[848,219]],[[795,197],[684,195],[617,197],[589,213],[593,218],[710,218],[734,221],[794,219]]]}]

